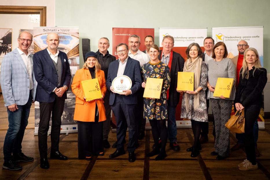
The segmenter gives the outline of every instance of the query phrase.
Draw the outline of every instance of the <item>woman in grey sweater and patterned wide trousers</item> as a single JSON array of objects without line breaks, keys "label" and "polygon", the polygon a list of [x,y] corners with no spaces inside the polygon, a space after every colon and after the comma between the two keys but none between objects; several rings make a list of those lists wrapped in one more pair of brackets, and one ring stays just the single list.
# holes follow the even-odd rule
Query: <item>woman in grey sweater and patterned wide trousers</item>
[{"label": "woman in grey sweater and patterned wide trousers", "polygon": [[230,137],[229,129],[225,127],[226,122],[231,117],[232,103],[235,98],[235,85],[232,88],[229,98],[214,97],[214,91],[218,78],[234,78],[235,82],[235,67],[232,60],[226,58],[228,55],[225,43],[218,42],[214,46],[212,60],[208,61],[208,82],[209,89],[207,99],[210,99],[212,111],[214,114],[214,126],[216,139],[214,148],[215,151],[211,155],[216,156],[216,160],[222,160],[229,156]]}]

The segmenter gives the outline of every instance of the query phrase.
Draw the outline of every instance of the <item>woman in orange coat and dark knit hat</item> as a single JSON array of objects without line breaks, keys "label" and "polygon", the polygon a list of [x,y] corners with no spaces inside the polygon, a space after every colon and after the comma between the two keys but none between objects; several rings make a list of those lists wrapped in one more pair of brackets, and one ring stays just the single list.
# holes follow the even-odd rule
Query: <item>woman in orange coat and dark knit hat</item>
[{"label": "woman in orange coat and dark knit hat", "polygon": [[[106,81],[97,56],[95,52],[86,53],[85,64],[76,72],[71,85],[76,95],[74,120],[78,123],[78,154],[79,159],[86,160],[91,160],[95,155],[104,155],[102,121],[106,120],[103,104]],[[93,78],[98,78],[102,98],[86,101],[81,81]]]}]

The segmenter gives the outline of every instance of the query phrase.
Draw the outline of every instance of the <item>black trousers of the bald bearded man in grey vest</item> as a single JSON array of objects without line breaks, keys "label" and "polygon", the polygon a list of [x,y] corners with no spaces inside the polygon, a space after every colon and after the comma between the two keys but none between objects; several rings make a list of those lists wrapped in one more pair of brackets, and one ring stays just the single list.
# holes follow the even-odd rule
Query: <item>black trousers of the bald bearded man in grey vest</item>
[{"label": "black trousers of the bald bearded man in grey vest", "polygon": [[47,134],[52,113],[51,152],[59,151],[61,116],[64,111],[65,99],[55,95],[54,102],[39,102],[40,121],[38,126],[38,149],[41,158],[47,157]]}]

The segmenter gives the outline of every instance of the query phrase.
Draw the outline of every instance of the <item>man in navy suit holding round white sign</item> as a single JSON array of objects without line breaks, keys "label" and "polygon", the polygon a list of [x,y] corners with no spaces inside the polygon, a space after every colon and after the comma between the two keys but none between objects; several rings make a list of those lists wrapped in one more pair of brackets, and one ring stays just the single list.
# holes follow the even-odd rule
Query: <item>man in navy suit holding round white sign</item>
[{"label": "man in navy suit holding round white sign", "polygon": [[[128,45],[120,43],[116,46],[116,51],[119,59],[110,63],[106,80],[107,89],[111,93],[109,104],[115,115],[117,125],[117,148],[109,157],[115,158],[125,154],[124,139],[127,125],[129,136],[128,161],[134,162],[136,160],[134,151],[137,141],[135,110],[138,103],[137,91],[142,85],[141,68],[139,61],[128,56]],[[121,75],[128,76],[131,79],[132,86],[130,89],[123,90],[123,93],[118,94],[113,91],[112,81]]]}]

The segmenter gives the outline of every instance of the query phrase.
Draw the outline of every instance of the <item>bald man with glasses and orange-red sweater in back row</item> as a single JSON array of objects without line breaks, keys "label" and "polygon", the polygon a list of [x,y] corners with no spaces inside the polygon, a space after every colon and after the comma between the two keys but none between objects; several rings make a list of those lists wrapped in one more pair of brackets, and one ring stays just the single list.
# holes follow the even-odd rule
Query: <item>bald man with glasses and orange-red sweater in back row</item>
[{"label": "bald man with glasses and orange-red sweater in back row", "polygon": [[[239,54],[238,56],[235,56],[234,58],[232,58],[232,62],[234,63],[236,67],[236,87],[238,86],[238,83],[239,83],[239,72],[243,65],[244,52],[248,48],[249,48],[249,45],[247,44],[247,41],[239,41],[237,45]],[[253,126],[253,135],[254,135],[254,140],[255,140],[255,152],[256,152],[257,157],[260,156],[260,152],[257,149],[258,131],[259,131],[258,121],[255,121],[254,126]],[[238,140],[238,142],[236,145],[232,147],[232,150],[238,150],[244,147],[242,135],[243,134],[236,133],[236,139]]]}]

